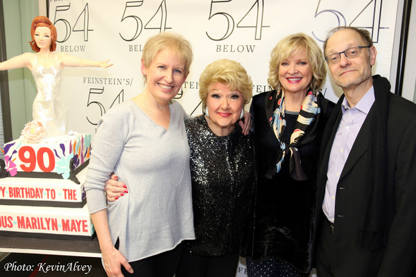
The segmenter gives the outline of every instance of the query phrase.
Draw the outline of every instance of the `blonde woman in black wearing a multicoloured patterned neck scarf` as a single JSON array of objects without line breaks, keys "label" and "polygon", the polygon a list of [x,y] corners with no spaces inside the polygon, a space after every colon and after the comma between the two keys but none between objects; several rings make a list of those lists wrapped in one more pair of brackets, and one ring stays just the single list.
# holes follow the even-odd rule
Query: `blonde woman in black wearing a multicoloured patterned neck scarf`
[{"label": "blonde woman in black wearing a multicoloured patterned neck scarf", "polygon": [[272,50],[272,91],[253,97],[255,202],[242,253],[248,276],[309,276],[322,131],[333,103],[320,92],[324,57],[303,33]]}]

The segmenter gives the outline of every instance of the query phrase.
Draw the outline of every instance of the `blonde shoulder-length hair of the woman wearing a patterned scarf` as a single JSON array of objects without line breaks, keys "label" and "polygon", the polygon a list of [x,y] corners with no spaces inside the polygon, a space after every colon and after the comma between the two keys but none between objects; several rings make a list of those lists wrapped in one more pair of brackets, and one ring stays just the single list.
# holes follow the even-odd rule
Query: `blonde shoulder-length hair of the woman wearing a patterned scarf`
[{"label": "blonde shoulder-length hair of the woman wearing a patterned scarf", "polygon": [[272,89],[280,87],[279,65],[297,51],[305,49],[306,60],[311,64],[312,81],[309,84],[313,91],[320,89],[325,82],[327,69],[325,67],[324,55],[315,40],[304,33],[288,35],[273,48],[269,64],[268,84]]}]

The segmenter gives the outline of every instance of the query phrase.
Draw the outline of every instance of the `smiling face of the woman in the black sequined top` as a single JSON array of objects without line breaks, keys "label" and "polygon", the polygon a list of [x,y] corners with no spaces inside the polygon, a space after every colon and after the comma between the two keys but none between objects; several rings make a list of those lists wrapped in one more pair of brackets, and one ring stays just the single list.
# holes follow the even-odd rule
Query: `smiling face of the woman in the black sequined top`
[{"label": "smiling face of the woman in the black sequined top", "polygon": [[231,91],[228,84],[214,82],[209,84],[207,108],[209,113],[208,125],[218,136],[227,136],[239,120],[244,107],[243,94]]}]

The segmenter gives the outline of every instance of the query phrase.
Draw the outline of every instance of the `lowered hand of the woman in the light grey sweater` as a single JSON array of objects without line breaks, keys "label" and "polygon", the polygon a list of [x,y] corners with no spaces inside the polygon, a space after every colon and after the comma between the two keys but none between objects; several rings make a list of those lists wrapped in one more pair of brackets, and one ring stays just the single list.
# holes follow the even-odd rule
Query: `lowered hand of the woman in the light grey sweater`
[{"label": "lowered hand of the woman in the light grey sweater", "polygon": [[102,250],[101,255],[103,256],[103,265],[105,268],[105,272],[107,272],[107,276],[109,277],[123,277],[124,275],[121,273],[121,267],[124,267],[125,270],[133,273],[133,269],[125,260],[123,254],[114,247],[107,250]]}]

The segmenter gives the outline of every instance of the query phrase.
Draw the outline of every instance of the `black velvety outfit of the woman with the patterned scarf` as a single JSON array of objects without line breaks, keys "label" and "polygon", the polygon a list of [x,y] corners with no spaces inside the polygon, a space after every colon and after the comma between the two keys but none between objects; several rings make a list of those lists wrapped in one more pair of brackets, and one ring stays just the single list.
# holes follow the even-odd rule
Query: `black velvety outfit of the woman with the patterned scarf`
[{"label": "black velvety outfit of the woman with the patterned scarf", "polygon": [[322,95],[318,98],[321,115],[309,126],[316,128],[315,135],[311,137],[306,130],[303,140],[307,143],[299,148],[307,180],[296,181],[289,176],[288,160],[277,175],[267,179],[266,171],[273,166],[280,148],[269,123],[276,93],[260,93],[252,100],[255,195],[241,255],[254,261],[281,260],[297,271],[309,272],[320,143],[333,103]]}]

